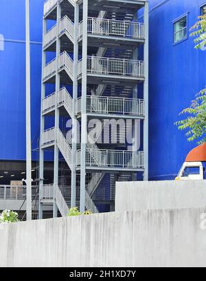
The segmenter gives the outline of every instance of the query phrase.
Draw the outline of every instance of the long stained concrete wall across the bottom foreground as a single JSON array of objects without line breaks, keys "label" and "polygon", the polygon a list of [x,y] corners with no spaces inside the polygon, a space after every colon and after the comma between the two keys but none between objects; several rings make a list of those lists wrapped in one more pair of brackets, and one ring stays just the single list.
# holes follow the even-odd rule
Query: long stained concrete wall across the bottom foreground
[{"label": "long stained concrete wall across the bottom foreground", "polygon": [[205,211],[129,211],[1,225],[0,267],[205,267]]}]

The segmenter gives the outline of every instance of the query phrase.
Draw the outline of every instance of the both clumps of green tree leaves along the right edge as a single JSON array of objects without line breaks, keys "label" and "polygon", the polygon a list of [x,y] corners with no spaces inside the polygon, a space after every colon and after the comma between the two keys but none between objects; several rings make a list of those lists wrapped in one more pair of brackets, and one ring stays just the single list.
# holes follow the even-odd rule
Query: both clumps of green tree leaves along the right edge
[{"label": "both clumps of green tree leaves along the right edge", "polygon": [[[190,36],[196,37],[194,43],[195,48],[203,50],[206,40],[206,15],[198,17],[199,21],[192,26],[193,31]],[[181,131],[187,129],[187,141],[197,140],[198,145],[206,143],[206,89],[201,90],[196,95],[194,101],[191,102],[190,107],[185,108],[181,114],[186,114],[187,118],[182,121],[176,122],[175,125]]]}]

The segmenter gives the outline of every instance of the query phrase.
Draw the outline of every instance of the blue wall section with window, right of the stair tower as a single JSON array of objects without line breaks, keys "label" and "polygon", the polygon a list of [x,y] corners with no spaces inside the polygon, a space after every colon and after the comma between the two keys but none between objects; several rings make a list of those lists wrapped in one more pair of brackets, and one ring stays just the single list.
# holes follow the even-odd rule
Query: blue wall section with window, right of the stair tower
[{"label": "blue wall section with window, right of the stair tower", "polygon": [[[187,13],[188,29],[205,0],[149,0],[150,3],[150,179],[173,179],[196,143],[174,122],[206,85],[206,52],[194,50],[193,39],[174,45],[173,23]],[[189,32],[190,33],[190,32]]]}]

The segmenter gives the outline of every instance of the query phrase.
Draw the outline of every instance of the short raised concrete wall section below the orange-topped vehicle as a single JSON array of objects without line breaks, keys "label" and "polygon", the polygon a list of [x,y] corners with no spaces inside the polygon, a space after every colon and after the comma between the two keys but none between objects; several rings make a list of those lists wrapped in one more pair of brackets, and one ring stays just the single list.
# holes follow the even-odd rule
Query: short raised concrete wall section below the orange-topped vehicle
[{"label": "short raised concrete wall section below the orange-topped vehicle", "polygon": [[205,206],[206,180],[116,184],[116,211],[198,208]]}]

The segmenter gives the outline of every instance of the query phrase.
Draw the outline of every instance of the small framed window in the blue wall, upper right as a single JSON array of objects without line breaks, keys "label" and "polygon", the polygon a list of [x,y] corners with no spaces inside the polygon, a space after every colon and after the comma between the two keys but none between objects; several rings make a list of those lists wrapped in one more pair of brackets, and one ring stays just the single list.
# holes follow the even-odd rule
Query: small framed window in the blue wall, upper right
[{"label": "small framed window in the blue wall, upper right", "polygon": [[187,39],[187,16],[174,22],[174,43]]}]

